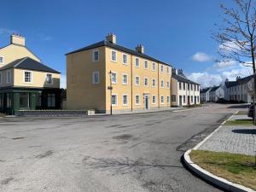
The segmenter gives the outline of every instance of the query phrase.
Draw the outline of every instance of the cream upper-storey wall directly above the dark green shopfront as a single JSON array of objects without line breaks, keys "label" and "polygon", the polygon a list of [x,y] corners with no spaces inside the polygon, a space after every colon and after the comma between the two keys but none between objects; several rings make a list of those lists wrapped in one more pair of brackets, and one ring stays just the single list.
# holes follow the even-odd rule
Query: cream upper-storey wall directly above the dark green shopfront
[{"label": "cream upper-storey wall directly above the dark green shopfront", "polygon": [[[32,72],[32,83],[24,82],[24,72]],[[19,87],[37,87],[37,88],[60,88],[60,74],[59,73],[49,73],[52,74],[53,84],[46,84],[46,72],[38,72],[24,69],[14,69],[15,81],[14,85]]]}]

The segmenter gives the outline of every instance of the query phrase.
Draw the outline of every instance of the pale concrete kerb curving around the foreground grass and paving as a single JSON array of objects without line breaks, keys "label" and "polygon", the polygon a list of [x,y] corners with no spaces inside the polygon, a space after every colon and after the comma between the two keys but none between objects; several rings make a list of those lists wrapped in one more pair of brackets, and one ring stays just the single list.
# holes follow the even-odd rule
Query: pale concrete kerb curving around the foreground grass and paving
[{"label": "pale concrete kerb curving around the foreground grass and paving", "polygon": [[[238,111],[236,113],[238,113]],[[236,113],[234,113],[233,115],[235,115]],[[231,119],[231,117],[233,115],[231,115],[229,119]],[[232,182],[224,179],[223,177],[218,177],[216,175],[213,175],[211,172],[207,172],[205,169],[201,168],[201,166],[196,165],[195,162],[193,162],[190,159],[189,154],[191,153],[191,151],[200,148],[200,146],[203,143],[206,143],[207,140],[210,137],[212,137],[212,135],[214,135],[214,133],[217,132],[225,124],[225,122],[228,121],[229,119],[226,119],[222,123],[222,125],[219,125],[218,128],[215,131],[213,131],[208,137],[206,137],[203,141],[201,141],[201,143],[198,143],[194,148],[186,151],[183,154],[184,163],[186,166],[188,166],[189,170],[191,170],[192,172],[195,172],[198,176],[202,177],[203,179],[207,180],[208,182],[217,185],[221,189],[225,189],[227,191],[234,191],[234,192],[255,192],[253,189],[249,189],[245,186],[242,186],[241,184],[232,183]]]}]

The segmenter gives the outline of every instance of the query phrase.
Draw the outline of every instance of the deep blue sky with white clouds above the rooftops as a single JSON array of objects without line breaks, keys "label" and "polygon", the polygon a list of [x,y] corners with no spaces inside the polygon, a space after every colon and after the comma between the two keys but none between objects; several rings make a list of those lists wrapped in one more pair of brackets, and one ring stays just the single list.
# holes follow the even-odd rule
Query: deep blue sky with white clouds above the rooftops
[{"label": "deep blue sky with white clouds above the rooftops", "polygon": [[61,72],[66,87],[67,52],[102,41],[108,32],[117,44],[135,49],[143,44],[145,54],[182,68],[202,87],[250,74],[236,62],[220,62],[219,44],[212,39],[220,23],[219,4],[231,0],[1,0],[0,47],[9,35],[19,33],[26,46],[42,62]]}]

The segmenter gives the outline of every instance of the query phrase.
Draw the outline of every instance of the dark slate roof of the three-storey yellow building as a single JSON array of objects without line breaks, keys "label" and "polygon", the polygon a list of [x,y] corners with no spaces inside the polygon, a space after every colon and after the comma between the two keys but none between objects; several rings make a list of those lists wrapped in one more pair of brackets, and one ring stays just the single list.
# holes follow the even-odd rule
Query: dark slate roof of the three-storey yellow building
[{"label": "dark slate roof of the three-storey yellow building", "polygon": [[121,46],[119,44],[113,44],[113,43],[111,43],[109,41],[106,41],[106,40],[98,42],[96,44],[90,44],[89,46],[86,46],[86,47],[84,47],[82,49],[77,49],[77,50],[74,50],[72,52],[69,52],[66,55],[70,55],[70,54],[73,54],[73,53],[78,53],[78,52],[81,52],[81,51],[84,51],[84,50],[88,50],[88,49],[96,49],[96,48],[102,47],[102,46],[107,46],[109,48],[118,49],[118,50],[121,50],[121,51],[123,51],[125,53],[129,53],[131,55],[137,55],[137,56],[143,57],[143,58],[151,60],[151,61],[160,62],[160,63],[165,64],[167,66],[171,66],[170,64],[168,64],[168,63],[166,63],[164,61],[157,60],[154,57],[151,57],[149,55],[146,55],[146,54],[143,54],[143,53],[139,53],[139,52],[137,52],[136,50],[133,50],[133,49],[125,48],[125,47],[123,47],[123,46]]}]

